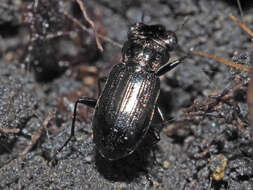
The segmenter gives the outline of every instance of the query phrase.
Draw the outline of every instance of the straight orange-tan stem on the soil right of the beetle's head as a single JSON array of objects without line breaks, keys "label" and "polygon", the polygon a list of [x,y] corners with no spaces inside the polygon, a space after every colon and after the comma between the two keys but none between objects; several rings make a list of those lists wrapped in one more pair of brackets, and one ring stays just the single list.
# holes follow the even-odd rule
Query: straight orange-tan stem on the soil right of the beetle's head
[{"label": "straight orange-tan stem on the soil right of the beetle's head", "polygon": [[192,53],[195,54],[195,55],[200,55],[200,56],[211,58],[211,59],[213,59],[213,60],[215,60],[219,63],[226,64],[230,67],[240,69],[242,71],[249,72],[251,70],[251,67],[249,67],[249,66],[243,66],[243,65],[240,65],[240,64],[236,64],[235,62],[230,61],[228,59],[218,57],[216,55],[212,55],[212,54],[209,54],[209,53],[206,53],[206,52],[203,52],[203,51],[192,51]]}]

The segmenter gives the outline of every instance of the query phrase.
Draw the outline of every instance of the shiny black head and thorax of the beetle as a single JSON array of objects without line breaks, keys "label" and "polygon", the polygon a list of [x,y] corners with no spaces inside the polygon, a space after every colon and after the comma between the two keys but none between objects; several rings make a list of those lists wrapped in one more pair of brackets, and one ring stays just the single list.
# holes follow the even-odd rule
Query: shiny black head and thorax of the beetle
[{"label": "shiny black head and thorax of the beetle", "polygon": [[169,60],[169,52],[176,46],[176,34],[164,26],[136,23],[128,31],[122,57],[124,62],[134,62],[147,71],[156,72]]}]

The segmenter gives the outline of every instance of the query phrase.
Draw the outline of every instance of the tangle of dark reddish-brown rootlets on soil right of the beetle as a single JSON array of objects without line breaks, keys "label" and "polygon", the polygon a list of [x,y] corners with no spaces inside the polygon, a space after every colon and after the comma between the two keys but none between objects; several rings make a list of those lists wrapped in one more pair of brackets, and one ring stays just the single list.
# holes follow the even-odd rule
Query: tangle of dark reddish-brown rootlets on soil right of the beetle
[{"label": "tangle of dark reddish-brown rootlets on soil right of the beetle", "polygon": [[[234,94],[238,91],[243,91],[246,94],[247,86],[248,82],[241,83],[230,90],[224,90],[215,96],[209,96],[209,98],[202,103],[195,101],[191,107],[183,110],[183,115],[179,120],[174,122],[172,125],[173,127],[166,131],[166,133],[169,135],[175,134],[175,131],[180,128],[189,128],[189,122],[197,122],[199,124],[205,117],[225,119],[226,121],[232,122],[237,127],[238,131],[242,132],[248,122],[245,121],[245,118],[241,114],[241,109],[236,100],[234,100]],[[223,111],[224,104],[230,106],[233,110],[233,120],[230,120]],[[196,156],[198,155],[196,154]]]}]

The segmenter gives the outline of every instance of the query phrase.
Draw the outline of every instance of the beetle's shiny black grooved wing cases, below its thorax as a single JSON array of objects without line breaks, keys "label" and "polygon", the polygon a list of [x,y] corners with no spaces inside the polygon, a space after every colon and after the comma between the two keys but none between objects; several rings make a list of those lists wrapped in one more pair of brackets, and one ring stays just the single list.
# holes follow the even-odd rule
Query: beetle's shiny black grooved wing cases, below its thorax
[{"label": "beetle's shiny black grooved wing cases, below its thorax", "polygon": [[146,135],[159,95],[160,80],[136,64],[116,65],[93,117],[94,142],[101,155],[131,154]]}]

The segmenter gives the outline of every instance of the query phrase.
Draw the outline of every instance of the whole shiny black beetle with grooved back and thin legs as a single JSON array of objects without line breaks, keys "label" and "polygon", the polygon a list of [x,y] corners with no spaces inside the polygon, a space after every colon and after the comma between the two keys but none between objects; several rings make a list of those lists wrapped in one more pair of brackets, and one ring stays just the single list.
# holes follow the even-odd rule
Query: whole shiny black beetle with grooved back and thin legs
[{"label": "whole shiny black beetle with grooved back and thin legs", "polygon": [[157,106],[159,76],[184,59],[169,62],[169,52],[176,47],[175,33],[162,25],[137,23],[131,26],[122,48],[122,62],[112,68],[97,100],[80,98],[76,101],[71,135],[58,152],[74,136],[79,103],[95,108],[92,121],[94,143],[98,152],[108,160],[133,153],[149,130],[159,140],[159,133],[150,124],[155,112],[164,120]]}]

